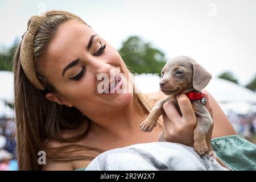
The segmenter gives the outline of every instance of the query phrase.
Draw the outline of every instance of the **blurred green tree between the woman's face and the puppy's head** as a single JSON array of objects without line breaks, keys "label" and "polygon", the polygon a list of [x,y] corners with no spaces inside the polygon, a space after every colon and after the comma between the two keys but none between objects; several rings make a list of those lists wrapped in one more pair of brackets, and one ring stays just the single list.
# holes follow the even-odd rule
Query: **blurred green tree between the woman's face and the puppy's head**
[{"label": "blurred green tree between the woman's face and the puppy's head", "polygon": [[138,36],[129,37],[118,51],[131,72],[160,73],[166,63],[162,51]]}]

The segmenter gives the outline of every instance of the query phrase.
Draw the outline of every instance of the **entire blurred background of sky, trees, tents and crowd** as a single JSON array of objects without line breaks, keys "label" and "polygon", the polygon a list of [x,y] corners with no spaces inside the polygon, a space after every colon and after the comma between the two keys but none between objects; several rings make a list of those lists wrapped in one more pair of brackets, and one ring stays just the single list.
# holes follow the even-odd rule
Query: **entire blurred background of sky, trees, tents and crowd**
[{"label": "entire blurred background of sky, trees, tents and crowd", "polygon": [[255,143],[256,1],[0,0],[0,170],[16,170],[12,61],[32,15],[79,15],[121,54],[142,92],[159,89],[167,60],[193,57],[213,79],[207,90],[238,135]]}]

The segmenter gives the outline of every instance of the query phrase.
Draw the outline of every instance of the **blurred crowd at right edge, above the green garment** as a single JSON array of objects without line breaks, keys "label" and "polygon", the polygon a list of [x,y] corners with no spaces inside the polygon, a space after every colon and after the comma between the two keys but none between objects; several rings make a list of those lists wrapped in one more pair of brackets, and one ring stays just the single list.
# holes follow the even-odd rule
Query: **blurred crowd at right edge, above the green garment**
[{"label": "blurred crowd at right edge, above the green garment", "polygon": [[226,113],[237,134],[256,143],[256,113],[237,114],[233,111]]}]

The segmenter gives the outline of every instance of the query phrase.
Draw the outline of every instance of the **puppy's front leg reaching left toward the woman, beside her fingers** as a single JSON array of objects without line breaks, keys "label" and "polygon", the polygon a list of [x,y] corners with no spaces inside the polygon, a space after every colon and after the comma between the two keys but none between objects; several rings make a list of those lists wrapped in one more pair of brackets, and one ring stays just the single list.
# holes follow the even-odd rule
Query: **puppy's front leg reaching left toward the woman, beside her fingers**
[{"label": "puppy's front leg reaching left toward the woman, beside her fingers", "polygon": [[156,122],[160,115],[162,115],[163,104],[170,100],[170,97],[164,98],[156,103],[153,109],[148,114],[147,118],[139,125],[144,132],[151,132],[156,126]]}]

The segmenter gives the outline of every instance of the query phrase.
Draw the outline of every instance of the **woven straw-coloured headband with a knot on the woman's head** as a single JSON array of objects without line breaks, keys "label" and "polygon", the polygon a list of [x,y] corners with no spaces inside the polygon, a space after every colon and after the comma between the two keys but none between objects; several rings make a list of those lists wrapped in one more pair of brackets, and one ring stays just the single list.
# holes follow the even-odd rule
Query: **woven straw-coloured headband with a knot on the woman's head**
[{"label": "woven straw-coloured headband with a knot on the woman's head", "polygon": [[[46,13],[42,15],[32,16],[30,20],[28,20],[27,31],[23,35],[20,47],[20,63],[28,80],[39,90],[44,90],[45,88],[36,76],[34,63],[34,38],[35,35],[38,33],[39,28],[44,20],[46,20],[49,16],[53,15],[69,15],[82,20],[79,16],[75,14],[69,13],[67,11],[58,10],[46,11]],[[82,22],[84,22],[84,20],[82,20]]]}]

